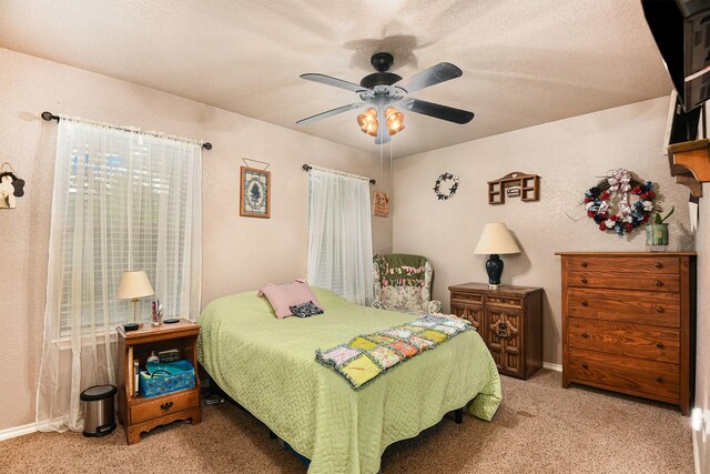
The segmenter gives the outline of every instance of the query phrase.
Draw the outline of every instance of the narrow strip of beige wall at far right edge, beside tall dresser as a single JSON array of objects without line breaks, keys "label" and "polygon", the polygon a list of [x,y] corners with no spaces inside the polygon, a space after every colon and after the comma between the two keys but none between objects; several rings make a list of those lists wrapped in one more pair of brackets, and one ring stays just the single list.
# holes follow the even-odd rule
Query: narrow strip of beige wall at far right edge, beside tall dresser
[{"label": "narrow strip of beige wall at far right edge, beside tall dresser", "polygon": [[[698,321],[696,331],[696,404],[702,409],[710,420],[710,184],[702,186],[700,200],[700,219],[698,222]],[[698,436],[699,461],[703,468],[710,471],[710,433]]]}]

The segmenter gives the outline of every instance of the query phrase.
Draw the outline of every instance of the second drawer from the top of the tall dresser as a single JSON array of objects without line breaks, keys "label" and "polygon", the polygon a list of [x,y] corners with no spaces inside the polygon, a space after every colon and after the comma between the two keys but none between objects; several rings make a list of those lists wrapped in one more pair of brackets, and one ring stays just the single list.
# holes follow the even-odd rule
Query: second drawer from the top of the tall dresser
[{"label": "second drawer from the top of the tall dresser", "polygon": [[567,285],[576,288],[608,288],[620,290],[642,290],[642,291],[680,291],[680,279],[678,275],[669,273],[631,274],[616,272],[567,272]]}]

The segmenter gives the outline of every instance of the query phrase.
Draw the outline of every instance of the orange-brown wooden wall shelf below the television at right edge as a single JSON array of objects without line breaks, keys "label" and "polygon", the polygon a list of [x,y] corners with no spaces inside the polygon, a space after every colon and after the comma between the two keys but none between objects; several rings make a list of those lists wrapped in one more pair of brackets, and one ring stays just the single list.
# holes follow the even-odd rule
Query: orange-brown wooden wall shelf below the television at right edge
[{"label": "orange-brown wooden wall shelf below the television at right edge", "polygon": [[687,185],[696,198],[702,198],[702,183],[710,182],[710,140],[673,143],[668,147],[670,175]]}]

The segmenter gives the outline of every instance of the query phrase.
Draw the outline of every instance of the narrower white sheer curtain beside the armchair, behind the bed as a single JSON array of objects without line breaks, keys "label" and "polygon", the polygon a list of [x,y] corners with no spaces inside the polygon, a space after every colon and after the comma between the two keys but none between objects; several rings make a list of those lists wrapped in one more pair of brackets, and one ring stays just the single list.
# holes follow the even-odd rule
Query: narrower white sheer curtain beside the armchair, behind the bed
[{"label": "narrower white sheer curtain beside the armchair, behind the bed", "polygon": [[308,205],[308,283],[357,303],[373,300],[369,182],[314,168]]}]

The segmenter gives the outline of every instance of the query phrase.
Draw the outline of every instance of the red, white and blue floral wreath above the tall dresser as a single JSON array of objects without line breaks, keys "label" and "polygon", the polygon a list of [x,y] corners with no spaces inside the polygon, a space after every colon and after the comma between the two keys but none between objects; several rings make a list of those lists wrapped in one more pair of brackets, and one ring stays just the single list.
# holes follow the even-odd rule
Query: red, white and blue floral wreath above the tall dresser
[{"label": "red, white and blue floral wreath above the tall dresser", "polygon": [[[638,200],[629,203],[629,192]],[[618,196],[620,214],[610,211],[611,198]],[[611,171],[596,186],[585,193],[587,215],[592,219],[600,231],[615,231],[619,236],[645,224],[653,211],[653,183],[645,183],[631,178],[631,173],[622,168]]]}]

